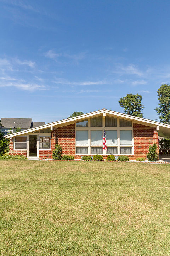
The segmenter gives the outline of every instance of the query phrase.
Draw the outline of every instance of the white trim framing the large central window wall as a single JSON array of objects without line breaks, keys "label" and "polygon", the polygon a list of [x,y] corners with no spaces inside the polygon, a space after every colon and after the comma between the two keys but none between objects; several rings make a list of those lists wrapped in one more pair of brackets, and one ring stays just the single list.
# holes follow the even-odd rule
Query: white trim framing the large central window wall
[{"label": "white trim framing the large central window wall", "polygon": [[[123,119],[123,118],[120,118]],[[105,124],[105,118],[103,117],[103,126],[102,127],[91,127],[90,126],[90,117],[88,118],[88,127],[76,127],[76,122],[75,122],[75,155],[79,156],[79,155],[96,155],[96,154],[91,154],[91,147],[103,147],[101,145],[90,145],[91,144],[91,130],[102,130],[102,132],[104,132],[104,128],[105,131],[107,130],[117,130],[117,145],[108,145],[107,148],[111,147],[116,147],[118,148],[118,153],[114,154],[115,156],[118,155],[129,155],[132,156],[134,155],[134,130],[133,130],[133,122],[132,122],[132,126],[120,126],[119,125],[119,117],[117,117],[117,127],[104,127]],[[76,145],[76,132],[77,130],[88,130],[88,145]],[[120,145],[120,130],[131,130],[132,131],[132,145]],[[103,135],[103,134],[102,134]],[[83,147],[88,147],[88,153],[87,154],[76,154],[76,148],[83,148]],[[120,154],[120,148],[121,147],[131,147],[132,148],[132,153],[131,154]],[[111,154],[105,154],[105,150],[103,149],[103,153],[102,155],[111,155]]]}]

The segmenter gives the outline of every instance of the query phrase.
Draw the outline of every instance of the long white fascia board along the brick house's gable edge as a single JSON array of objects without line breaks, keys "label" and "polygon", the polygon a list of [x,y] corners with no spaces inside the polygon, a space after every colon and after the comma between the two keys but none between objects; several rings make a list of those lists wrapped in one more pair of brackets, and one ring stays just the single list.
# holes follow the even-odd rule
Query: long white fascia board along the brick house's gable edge
[{"label": "long white fascia board along the brick house's gable edge", "polygon": [[51,126],[56,126],[57,127],[57,126],[61,126],[61,124],[74,123],[77,120],[86,119],[86,118],[96,116],[96,115],[99,115],[99,114],[103,114],[103,113],[111,114],[111,115],[114,115],[114,116],[117,116],[117,117],[126,118],[126,119],[129,119],[129,120],[134,120],[134,121],[137,121],[137,122],[142,122],[142,123],[144,123],[144,125],[145,125],[145,123],[147,123],[147,124],[152,124],[153,126],[158,126],[159,125],[159,126],[166,127],[166,128],[170,129],[169,124],[164,124],[164,123],[156,122],[156,121],[141,118],[141,117],[130,116],[128,114],[124,114],[124,113],[120,113],[120,112],[116,112],[116,111],[112,111],[112,110],[102,109],[102,110],[97,110],[97,111],[90,112],[90,113],[87,113],[87,114],[83,114],[81,116],[71,117],[71,118],[60,120],[60,121],[52,122],[52,123],[49,123],[49,124],[44,124],[44,125],[39,126],[39,127],[35,127],[35,128],[32,128],[32,129],[28,129],[28,130],[24,130],[24,131],[21,131],[21,132],[13,133],[12,135],[9,134],[9,135],[6,135],[5,138],[10,138],[10,137],[15,137],[15,136],[26,134],[26,133],[36,132],[38,130],[46,129],[46,128],[49,128]]}]

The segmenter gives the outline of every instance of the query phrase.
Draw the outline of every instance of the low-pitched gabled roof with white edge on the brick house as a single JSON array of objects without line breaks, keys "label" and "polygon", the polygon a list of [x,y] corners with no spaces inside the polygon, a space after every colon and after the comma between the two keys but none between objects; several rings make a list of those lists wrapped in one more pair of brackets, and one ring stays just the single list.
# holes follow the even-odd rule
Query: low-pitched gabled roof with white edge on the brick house
[{"label": "low-pitched gabled roof with white edge on the brick house", "polygon": [[[24,130],[22,132],[18,132],[18,133],[15,133],[15,134],[6,135],[5,137],[10,138],[10,137],[14,137],[14,136],[21,135],[21,134],[36,132],[38,130],[46,129],[46,128],[49,128],[49,127],[66,126],[68,124],[74,123],[75,121],[81,121],[81,120],[87,119],[89,117],[100,116],[100,115],[103,115],[103,114],[106,114],[108,116],[113,116],[113,117],[120,117],[122,119],[128,119],[128,120],[131,120],[133,122],[140,123],[140,124],[147,125],[147,126],[152,126],[152,127],[156,126],[157,128],[159,127],[160,128],[160,132],[159,132],[160,136],[170,137],[170,125],[169,124],[156,122],[156,121],[149,120],[149,119],[146,119],[146,118],[131,116],[131,115],[128,115],[128,114],[124,114],[124,113],[120,113],[120,112],[116,112],[116,111],[112,111],[112,110],[107,110],[105,108],[103,108],[102,110],[97,110],[97,111],[94,111],[94,112],[83,114],[81,116],[63,119],[63,120],[60,120],[60,121],[44,124],[42,126],[32,128],[32,129],[29,129],[29,130]],[[161,135],[161,134],[163,134],[163,135]]]}]

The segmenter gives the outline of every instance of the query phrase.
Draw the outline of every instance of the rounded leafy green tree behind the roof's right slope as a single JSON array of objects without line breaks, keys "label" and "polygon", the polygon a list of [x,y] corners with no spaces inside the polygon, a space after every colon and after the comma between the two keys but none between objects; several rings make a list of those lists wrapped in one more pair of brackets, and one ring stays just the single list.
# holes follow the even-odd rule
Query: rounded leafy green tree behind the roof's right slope
[{"label": "rounded leafy green tree behind the roof's right slope", "polygon": [[142,104],[142,96],[140,94],[126,94],[124,98],[120,98],[119,104],[124,108],[125,114],[143,117],[141,110],[145,108]]}]

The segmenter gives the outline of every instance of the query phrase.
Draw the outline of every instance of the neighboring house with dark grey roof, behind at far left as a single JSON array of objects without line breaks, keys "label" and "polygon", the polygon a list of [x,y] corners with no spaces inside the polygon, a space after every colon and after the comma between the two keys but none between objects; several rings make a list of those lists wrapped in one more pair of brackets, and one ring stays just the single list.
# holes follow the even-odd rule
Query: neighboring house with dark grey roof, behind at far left
[{"label": "neighboring house with dark grey roof, behind at far left", "polygon": [[0,127],[0,130],[2,134],[6,135],[10,128],[12,128],[12,133],[14,133],[18,127],[23,131],[42,126],[45,122],[33,122],[32,118],[1,118],[1,124],[3,127]]}]

